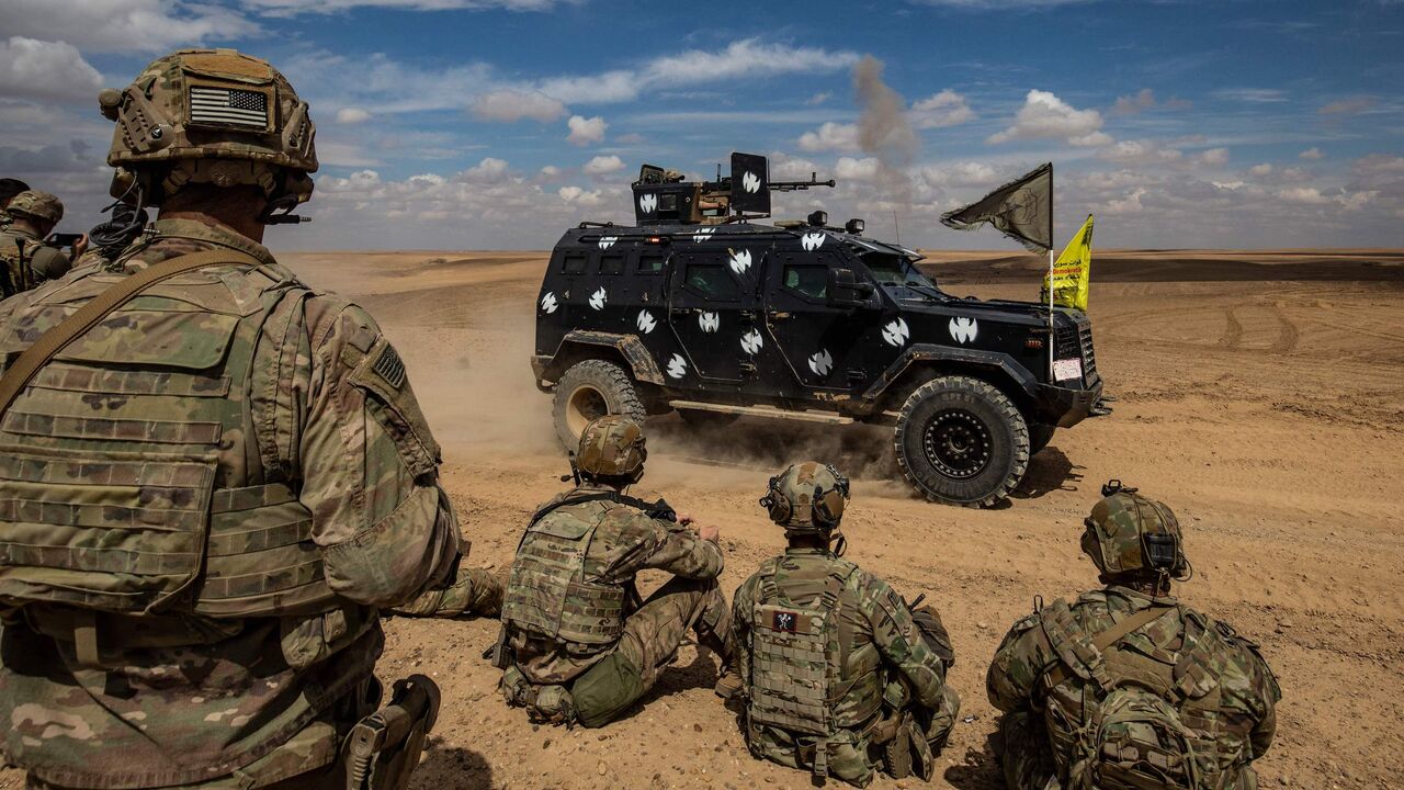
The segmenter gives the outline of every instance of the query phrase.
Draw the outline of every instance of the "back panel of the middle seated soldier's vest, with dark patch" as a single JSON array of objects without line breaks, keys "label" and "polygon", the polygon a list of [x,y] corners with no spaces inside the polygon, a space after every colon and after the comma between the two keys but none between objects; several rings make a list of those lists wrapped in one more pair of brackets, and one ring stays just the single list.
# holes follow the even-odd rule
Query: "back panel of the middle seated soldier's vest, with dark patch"
[{"label": "back panel of the middle seated soldier's vest, with dark patch", "polygon": [[750,738],[757,738],[757,724],[816,737],[813,773],[823,777],[828,776],[828,739],[838,734],[838,596],[858,566],[837,562],[819,600],[797,606],[775,585],[776,565],[771,559],[761,566],[754,607]]}]

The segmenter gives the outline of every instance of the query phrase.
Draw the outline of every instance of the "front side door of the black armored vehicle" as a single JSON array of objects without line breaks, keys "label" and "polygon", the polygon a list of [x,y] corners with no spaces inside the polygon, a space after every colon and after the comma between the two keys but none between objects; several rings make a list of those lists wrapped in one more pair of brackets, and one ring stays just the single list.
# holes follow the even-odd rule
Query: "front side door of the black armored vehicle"
[{"label": "front side door of the black armored vehicle", "polygon": [[[765,326],[783,353],[790,375],[804,388],[861,391],[870,373],[866,370],[865,343],[870,325],[879,315],[866,302],[878,304],[868,273],[837,249],[837,239],[826,236],[830,249],[820,243],[814,250],[772,253],[765,274]],[[835,290],[835,274],[852,273],[856,284]],[[856,290],[866,290],[855,299]],[[842,304],[835,304],[837,298]],[[855,301],[863,301],[858,306]]]}]

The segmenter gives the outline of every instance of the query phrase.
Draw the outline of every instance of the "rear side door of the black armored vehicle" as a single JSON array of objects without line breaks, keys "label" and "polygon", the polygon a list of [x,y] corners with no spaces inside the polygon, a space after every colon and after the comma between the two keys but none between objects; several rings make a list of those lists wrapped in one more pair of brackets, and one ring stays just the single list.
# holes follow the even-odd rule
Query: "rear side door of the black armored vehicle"
[{"label": "rear side door of the black armored vehicle", "polygon": [[740,382],[743,365],[750,370],[743,340],[760,315],[757,283],[733,266],[726,247],[680,247],[668,268],[668,325],[682,354],[665,363],[664,375],[681,380],[694,373],[703,381]]}]

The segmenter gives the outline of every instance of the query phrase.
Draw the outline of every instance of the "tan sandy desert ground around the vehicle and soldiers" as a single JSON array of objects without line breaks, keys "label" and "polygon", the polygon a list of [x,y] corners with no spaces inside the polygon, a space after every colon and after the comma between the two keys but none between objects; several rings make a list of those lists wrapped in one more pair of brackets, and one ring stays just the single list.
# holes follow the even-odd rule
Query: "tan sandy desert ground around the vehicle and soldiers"
[{"label": "tan sandy desert ground around the vehicle and soldiers", "polygon": [[[543,254],[296,254],[310,283],[354,295],[406,358],[477,564],[503,568],[567,471],[528,356]],[[849,558],[939,606],[956,645],[962,723],[935,787],[1000,787],[984,672],[1035,595],[1095,586],[1081,519],[1108,478],[1167,500],[1195,578],[1182,597],[1262,642],[1283,700],[1264,787],[1404,780],[1404,254],[1389,250],[1098,253],[1092,319],[1116,412],[1059,432],[1007,507],[915,499],[886,432],[741,422],[699,437],[650,425],[643,486],[720,524],[733,590],[781,547],[755,500],[792,458],[856,475]],[[1036,298],[1038,259],[943,253],[946,290]],[[602,731],[532,727],[480,654],[496,621],[395,620],[379,672],[444,689],[416,789],[807,787],[754,760],[712,694],[715,659],[685,647],[658,689]],[[0,787],[15,780],[0,777]],[[920,782],[879,779],[875,787]]]}]

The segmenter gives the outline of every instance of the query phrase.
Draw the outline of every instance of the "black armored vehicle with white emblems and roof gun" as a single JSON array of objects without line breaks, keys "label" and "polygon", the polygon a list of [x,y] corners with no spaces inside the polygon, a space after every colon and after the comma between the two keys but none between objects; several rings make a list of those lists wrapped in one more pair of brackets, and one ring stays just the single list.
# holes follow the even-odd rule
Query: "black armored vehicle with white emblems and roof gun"
[{"label": "black armored vehicle with white emblems and roof gun", "polygon": [[771,181],[765,157],[741,153],[716,181],[646,164],[636,226],[566,231],[532,357],[562,441],[605,413],[890,425],[928,499],[997,503],[1054,429],[1099,410],[1090,320],[952,297],[861,219],[755,222],[772,191],[816,186],[833,181]]}]

